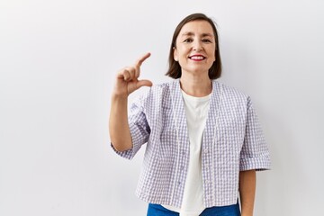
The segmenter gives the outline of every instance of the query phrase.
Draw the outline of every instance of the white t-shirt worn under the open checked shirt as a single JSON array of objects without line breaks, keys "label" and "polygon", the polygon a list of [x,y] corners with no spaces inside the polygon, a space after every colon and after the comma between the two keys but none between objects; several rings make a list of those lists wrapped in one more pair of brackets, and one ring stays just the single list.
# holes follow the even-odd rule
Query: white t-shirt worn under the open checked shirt
[{"label": "white t-shirt worn under the open checked shirt", "polygon": [[204,210],[202,188],[202,133],[205,128],[210,106],[211,94],[203,97],[194,97],[185,94],[184,110],[190,140],[190,156],[188,174],[184,185],[184,199],[181,209],[163,205],[166,209],[177,211],[180,216],[198,216]]}]

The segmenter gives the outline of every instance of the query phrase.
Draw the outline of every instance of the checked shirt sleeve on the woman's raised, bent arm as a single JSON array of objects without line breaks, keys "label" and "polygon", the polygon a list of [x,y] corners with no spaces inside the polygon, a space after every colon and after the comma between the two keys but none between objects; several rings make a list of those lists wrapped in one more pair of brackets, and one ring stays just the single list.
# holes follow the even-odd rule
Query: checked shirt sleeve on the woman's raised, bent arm
[{"label": "checked shirt sleeve on the woman's raised, bent arm", "polygon": [[111,143],[111,147],[114,152],[127,159],[132,159],[139,151],[139,148],[141,148],[141,146],[148,141],[150,129],[148,126],[148,121],[146,120],[145,113],[143,112],[142,103],[142,99],[139,98],[130,106],[130,115],[128,119],[132,148],[125,151],[118,151],[113,147]]}]

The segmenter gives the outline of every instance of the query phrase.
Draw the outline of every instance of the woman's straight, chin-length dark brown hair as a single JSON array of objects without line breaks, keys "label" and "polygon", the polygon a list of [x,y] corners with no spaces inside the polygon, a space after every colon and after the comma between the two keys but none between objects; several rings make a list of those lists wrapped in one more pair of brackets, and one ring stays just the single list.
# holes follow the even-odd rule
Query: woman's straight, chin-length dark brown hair
[{"label": "woman's straight, chin-length dark brown hair", "polygon": [[193,21],[207,21],[211,24],[212,31],[214,33],[215,37],[215,43],[216,43],[216,49],[215,49],[215,58],[216,60],[213,62],[211,68],[208,71],[208,76],[210,79],[217,79],[221,75],[221,61],[220,61],[220,46],[219,46],[219,37],[217,33],[217,29],[215,26],[215,23],[206,16],[205,14],[190,14],[187,17],[184,18],[175,28],[175,32],[172,38],[172,43],[170,47],[170,53],[169,53],[169,68],[166,72],[166,76],[170,76],[172,78],[179,78],[181,76],[181,67],[177,61],[175,61],[174,58],[174,48],[176,47],[175,41],[177,36],[179,35],[181,29],[184,27],[184,24],[193,22]]}]

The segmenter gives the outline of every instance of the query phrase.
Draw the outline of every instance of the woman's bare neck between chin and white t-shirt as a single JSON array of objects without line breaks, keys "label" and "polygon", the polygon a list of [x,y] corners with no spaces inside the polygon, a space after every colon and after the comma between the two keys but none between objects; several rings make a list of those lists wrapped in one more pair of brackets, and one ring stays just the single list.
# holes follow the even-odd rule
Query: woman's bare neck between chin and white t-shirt
[{"label": "woman's bare neck between chin and white t-shirt", "polygon": [[202,97],[211,94],[211,79],[209,76],[182,75],[180,77],[181,89],[189,95]]}]

